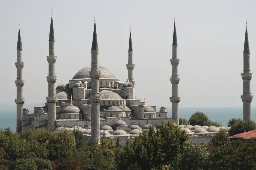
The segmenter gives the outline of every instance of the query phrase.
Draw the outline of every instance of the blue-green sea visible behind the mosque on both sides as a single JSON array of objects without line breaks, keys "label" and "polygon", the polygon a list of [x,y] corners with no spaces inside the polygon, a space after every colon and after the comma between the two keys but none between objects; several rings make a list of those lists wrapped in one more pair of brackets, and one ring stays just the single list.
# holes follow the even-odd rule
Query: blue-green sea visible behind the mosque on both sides
[{"label": "blue-green sea visible behind the mosque on both sides", "polygon": [[[227,127],[228,120],[232,118],[243,119],[243,108],[179,108],[179,117],[189,119],[190,116],[198,112],[205,113],[212,121],[218,121],[222,126]],[[171,109],[167,109],[168,117],[171,117]],[[251,119],[256,121],[256,108],[251,109]],[[2,110],[0,111],[0,128],[10,127],[16,130],[16,111]]]}]

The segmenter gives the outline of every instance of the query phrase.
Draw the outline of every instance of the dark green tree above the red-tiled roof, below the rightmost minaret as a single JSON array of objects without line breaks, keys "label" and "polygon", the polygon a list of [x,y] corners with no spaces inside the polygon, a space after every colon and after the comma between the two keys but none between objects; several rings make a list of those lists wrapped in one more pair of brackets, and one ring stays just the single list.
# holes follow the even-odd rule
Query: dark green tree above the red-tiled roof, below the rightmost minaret
[{"label": "dark green tree above the red-tiled roof, below the rightmost minaret", "polygon": [[238,120],[234,125],[230,128],[230,136],[244,133],[248,131],[252,131],[256,129],[256,124],[252,120]]}]

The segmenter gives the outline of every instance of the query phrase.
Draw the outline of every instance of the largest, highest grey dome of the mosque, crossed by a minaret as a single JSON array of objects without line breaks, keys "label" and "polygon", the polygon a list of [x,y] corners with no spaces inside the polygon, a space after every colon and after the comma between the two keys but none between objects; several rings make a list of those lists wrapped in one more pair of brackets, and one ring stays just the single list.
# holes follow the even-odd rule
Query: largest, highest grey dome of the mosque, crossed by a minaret
[{"label": "largest, highest grey dome of the mosque, crossed by a minaret", "polygon": [[[79,70],[72,79],[90,78],[89,72],[91,71],[91,65]],[[115,75],[108,69],[99,66],[100,79],[114,79],[117,80]]]}]

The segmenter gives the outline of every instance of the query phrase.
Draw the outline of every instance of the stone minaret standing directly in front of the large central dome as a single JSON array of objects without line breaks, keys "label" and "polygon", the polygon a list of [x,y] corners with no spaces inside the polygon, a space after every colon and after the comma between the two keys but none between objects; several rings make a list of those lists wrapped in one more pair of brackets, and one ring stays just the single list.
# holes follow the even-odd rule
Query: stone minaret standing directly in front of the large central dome
[{"label": "stone minaret standing directly in front of the large central dome", "polygon": [[96,19],[94,15],[93,43],[91,45],[91,95],[89,100],[91,103],[91,139],[96,143],[100,143],[100,102],[99,95],[99,48],[96,32]]}]

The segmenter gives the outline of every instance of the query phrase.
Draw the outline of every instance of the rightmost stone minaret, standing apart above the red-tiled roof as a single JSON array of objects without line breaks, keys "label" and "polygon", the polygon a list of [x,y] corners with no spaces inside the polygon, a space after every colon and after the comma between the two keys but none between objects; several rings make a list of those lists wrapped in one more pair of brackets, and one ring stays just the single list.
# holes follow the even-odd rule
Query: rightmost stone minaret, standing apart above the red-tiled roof
[{"label": "rightmost stone minaret, standing apart above the red-tiled roof", "polygon": [[248,33],[247,33],[247,21],[246,21],[246,29],[245,29],[245,39],[244,39],[244,70],[241,73],[243,79],[243,95],[241,99],[243,101],[243,117],[244,120],[251,119],[251,85],[250,81],[252,78],[252,73],[250,73],[250,49],[249,49],[249,41],[248,41]]}]

